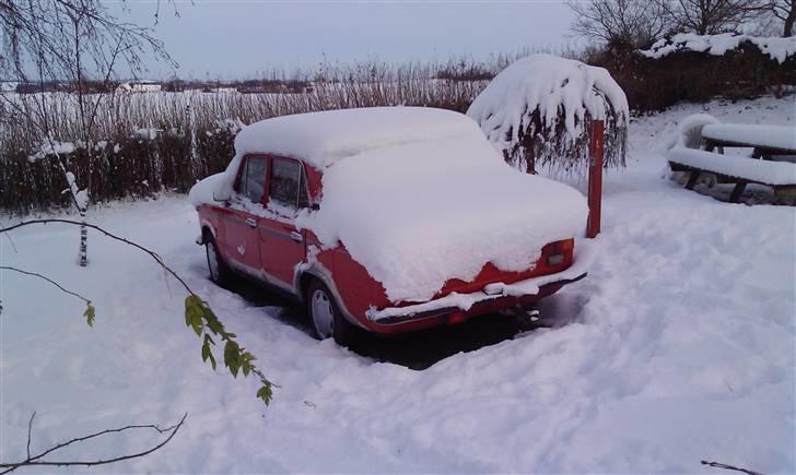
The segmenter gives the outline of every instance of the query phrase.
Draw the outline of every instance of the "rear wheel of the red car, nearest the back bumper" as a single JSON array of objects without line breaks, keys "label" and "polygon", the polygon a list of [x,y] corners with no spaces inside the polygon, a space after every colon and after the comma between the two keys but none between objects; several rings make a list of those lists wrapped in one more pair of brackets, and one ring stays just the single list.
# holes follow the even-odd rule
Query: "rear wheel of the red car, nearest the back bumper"
[{"label": "rear wheel of the red car, nearest the back bumper", "polygon": [[[304,297],[315,337],[318,340],[333,337],[338,345],[344,347],[351,346],[358,340],[360,329],[346,319],[335,300],[335,296],[323,282],[314,278],[309,283]],[[326,310],[331,313],[330,318],[328,314],[324,316],[325,311],[319,309],[319,307],[326,306],[328,306]]]}]

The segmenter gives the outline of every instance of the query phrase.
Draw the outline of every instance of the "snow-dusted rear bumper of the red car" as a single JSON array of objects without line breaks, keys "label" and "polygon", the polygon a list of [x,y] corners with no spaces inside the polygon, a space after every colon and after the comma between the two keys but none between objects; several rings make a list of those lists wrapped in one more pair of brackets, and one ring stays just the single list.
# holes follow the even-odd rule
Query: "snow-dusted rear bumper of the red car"
[{"label": "snow-dusted rear bumper of the red car", "polygon": [[396,324],[449,313],[477,313],[478,309],[495,310],[517,301],[534,301],[558,292],[566,284],[580,281],[587,275],[595,257],[595,245],[578,242],[575,247],[574,262],[569,269],[555,274],[540,275],[513,284],[490,284],[490,293],[452,293],[434,300],[403,307],[371,308],[365,312],[367,320],[378,324]]}]

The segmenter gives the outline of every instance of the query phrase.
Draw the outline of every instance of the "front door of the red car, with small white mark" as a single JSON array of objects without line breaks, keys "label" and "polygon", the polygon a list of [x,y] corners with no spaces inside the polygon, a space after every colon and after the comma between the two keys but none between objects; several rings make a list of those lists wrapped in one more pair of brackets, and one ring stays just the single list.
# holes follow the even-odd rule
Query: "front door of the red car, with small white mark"
[{"label": "front door of the red car, with small white mark", "polygon": [[265,156],[244,157],[231,205],[224,209],[225,256],[231,265],[254,276],[260,273],[257,225],[258,214],[262,212],[267,165]]}]

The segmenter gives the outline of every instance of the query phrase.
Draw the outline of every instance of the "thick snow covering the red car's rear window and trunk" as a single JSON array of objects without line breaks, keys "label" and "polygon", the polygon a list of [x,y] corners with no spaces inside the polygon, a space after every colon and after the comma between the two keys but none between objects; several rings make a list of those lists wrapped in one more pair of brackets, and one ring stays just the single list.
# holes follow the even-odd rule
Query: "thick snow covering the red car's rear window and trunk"
[{"label": "thick snow covering the red car's rear window and trunk", "polygon": [[511,168],[481,134],[341,158],[323,190],[297,225],[326,248],[342,242],[396,304],[471,281],[488,262],[527,270],[546,244],[580,237],[587,216],[578,191]]}]

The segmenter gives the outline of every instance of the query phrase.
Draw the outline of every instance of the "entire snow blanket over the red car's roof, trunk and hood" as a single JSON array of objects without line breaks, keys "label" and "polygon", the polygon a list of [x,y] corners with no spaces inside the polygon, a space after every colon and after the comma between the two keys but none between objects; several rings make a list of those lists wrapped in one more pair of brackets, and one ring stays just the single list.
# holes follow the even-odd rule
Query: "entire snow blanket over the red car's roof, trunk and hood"
[{"label": "entire snow blanket over the red car's roof, trunk and hood", "polygon": [[231,190],[242,157],[270,153],[323,170],[320,209],[296,224],[342,242],[394,301],[432,298],[488,262],[529,268],[551,241],[580,237],[587,209],[564,185],[508,167],[468,117],[411,107],[267,119],[245,128],[226,171],[200,181],[197,206]]}]

